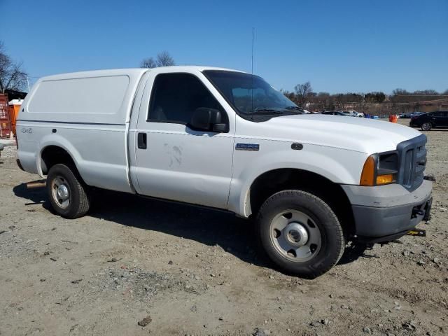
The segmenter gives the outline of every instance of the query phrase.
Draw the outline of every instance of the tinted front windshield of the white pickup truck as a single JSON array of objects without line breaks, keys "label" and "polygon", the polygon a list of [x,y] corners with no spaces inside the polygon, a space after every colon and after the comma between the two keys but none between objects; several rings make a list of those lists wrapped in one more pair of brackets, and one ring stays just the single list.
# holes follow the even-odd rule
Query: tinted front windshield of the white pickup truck
[{"label": "tinted front windshield of the white pickup truck", "polygon": [[243,116],[286,115],[303,113],[258,76],[235,71],[204,71],[225,99]]}]

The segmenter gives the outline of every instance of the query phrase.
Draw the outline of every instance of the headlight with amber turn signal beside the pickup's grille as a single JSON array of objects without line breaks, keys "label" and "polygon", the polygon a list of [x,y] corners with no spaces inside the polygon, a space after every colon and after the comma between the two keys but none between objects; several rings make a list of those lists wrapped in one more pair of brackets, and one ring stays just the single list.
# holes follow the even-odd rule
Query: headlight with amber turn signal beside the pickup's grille
[{"label": "headlight with amber turn signal beside the pickup's grille", "polygon": [[395,183],[398,174],[398,153],[386,152],[370,155],[365,160],[360,186],[383,186]]}]

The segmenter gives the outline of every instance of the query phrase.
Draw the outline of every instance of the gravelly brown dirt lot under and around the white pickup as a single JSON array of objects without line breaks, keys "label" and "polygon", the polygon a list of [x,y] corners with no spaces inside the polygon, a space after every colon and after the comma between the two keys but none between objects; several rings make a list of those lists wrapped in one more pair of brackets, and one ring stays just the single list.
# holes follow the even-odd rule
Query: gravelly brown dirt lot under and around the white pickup
[{"label": "gravelly brown dirt lot under and around the white pickup", "polygon": [[427,237],[348,251],[314,280],[272,269],[220,211],[100,192],[65,220],[1,158],[0,335],[446,335],[448,130],[426,135]]}]

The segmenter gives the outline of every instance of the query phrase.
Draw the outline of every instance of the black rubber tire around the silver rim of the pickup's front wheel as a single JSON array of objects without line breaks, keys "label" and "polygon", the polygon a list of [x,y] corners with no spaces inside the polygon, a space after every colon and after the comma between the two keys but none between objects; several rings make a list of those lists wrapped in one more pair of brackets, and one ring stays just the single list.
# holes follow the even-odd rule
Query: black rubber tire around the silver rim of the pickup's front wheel
[{"label": "black rubber tire around the silver rim of the pickup's front wheel", "polygon": [[[319,241],[321,246],[318,246],[318,249],[314,248],[314,252],[312,248],[310,249],[311,254],[306,257],[309,260],[304,258],[302,259],[304,261],[302,261],[297,259],[297,255],[290,253],[285,255],[285,253],[282,253],[279,244],[276,245],[275,243],[275,239],[279,238],[274,237],[274,235],[282,235],[284,230],[289,230],[290,225],[295,225],[295,220],[292,220],[294,223],[288,223],[285,229],[279,233],[279,230],[272,228],[274,219],[278,218],[279,214],[287,214],[290,210],[309,218],[321,235]],[[284,218],[281,219],[284,220]],[[302,190],[283,190],[269,197],[258,211],[255,225],[258,228],[258,237],[262,249],[276,266],[289,274],[315,278],[335,266],[342,257],[342,253],[344,253],[344,232],[337,216],[328,204],[319,197]],[[307,226],[304,225],[304,228],[307,228]],[[307,230],[309,240],[311,240],[309,228]],[[316,228],[311,230],[315,232]],[[291,236],[291,232],[293,231],[286,234],[288,239],[290,239],[289,237],[295,237],[294,233]],[[297,241],[293,242],[293,244],[295,243]]]}]

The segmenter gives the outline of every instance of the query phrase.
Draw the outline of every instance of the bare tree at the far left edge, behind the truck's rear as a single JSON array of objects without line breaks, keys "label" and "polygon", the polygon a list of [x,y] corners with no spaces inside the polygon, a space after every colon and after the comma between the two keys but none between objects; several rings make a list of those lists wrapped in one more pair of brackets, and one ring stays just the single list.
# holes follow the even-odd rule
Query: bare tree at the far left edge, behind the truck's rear
[{"label": "bare tree at the far left edge, behind the truck's rear", "polygon": [[6,55],[3,41],[0,41],[0,92],[23,90],[27,83],[27,73],[22,70],[22,62],[13,62]]}]

